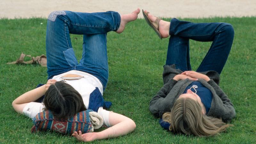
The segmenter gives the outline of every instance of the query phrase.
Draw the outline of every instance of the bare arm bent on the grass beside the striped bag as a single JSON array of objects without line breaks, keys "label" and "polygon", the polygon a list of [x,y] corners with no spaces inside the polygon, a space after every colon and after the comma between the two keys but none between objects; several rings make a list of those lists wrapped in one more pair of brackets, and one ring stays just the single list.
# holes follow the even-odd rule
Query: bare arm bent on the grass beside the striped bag
[{"label": "bare arm bent on the grass beside the striped bag", "polygon": [[111,127],[101,132],[82,134],[82,132],[79,131],[79,134],[75,132],[72,135],[79,141],[93,141],[125,135],[134,131],[136,128],[136,124],[132,119],[114,112],[109,113],[109,123]]}]

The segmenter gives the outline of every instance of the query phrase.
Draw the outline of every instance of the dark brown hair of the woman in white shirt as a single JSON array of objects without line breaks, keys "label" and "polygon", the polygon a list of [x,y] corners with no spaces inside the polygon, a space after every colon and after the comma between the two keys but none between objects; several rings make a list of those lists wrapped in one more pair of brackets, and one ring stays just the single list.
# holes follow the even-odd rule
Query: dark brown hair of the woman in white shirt
[{"label": "dark brown hair of the woman in white shirt", "polygon": [[82,96],[63,81],[52,84],[45,92],[44,105],[58,119],[67,119],[86,110]]}]

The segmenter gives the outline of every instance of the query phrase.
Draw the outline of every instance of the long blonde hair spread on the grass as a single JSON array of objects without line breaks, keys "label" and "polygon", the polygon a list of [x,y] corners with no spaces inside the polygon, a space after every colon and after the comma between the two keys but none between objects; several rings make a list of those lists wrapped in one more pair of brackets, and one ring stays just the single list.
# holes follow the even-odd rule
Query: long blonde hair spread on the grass
[{"label": "long blonde hair spread on the grass", "polygon": [[204,115],[199,103],[190,98],[178,99],[171,112],[164,113],[163,120],[171,124],[169,130],[173,133],[200,137],[219,134],[232,126],[221,119]]}]

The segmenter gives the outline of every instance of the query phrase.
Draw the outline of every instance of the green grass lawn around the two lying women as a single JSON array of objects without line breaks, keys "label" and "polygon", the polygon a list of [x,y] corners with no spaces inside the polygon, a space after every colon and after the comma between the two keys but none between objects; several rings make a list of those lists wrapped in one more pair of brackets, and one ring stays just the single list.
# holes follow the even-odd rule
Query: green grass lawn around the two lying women
[{"label": "green grass lawn around the two lying women", "polygon": [[[168,20],[168,19],[166,19]],[[108,33],[109,81],[104,98],[111,111],[132,118],[134,132],[93,143],[256,143],[256,17],[183,19],[192,22],[228,22],[235,29],[234,43],[221,74],[220,87],[232,100],[234,127],[210,138],[173,135],[164,131],[148,111],[150,99],[163,85],[162,72],[168,39],[160,40],[147,23],[136,20],[122,34]],[[40,23],[43,23],[42,25]],[[45,54],[46,19],[0,20],[0,143],[76,143],[70,136],[53,132],[31,134],[32,121],[17,114],[12,101],[45,83],[46,68],[38,65],[7,65],[21,52]],[[77,58],[81,58],[82,36],[71,35]],[[211,43],[190,41],[195,70]]]}]

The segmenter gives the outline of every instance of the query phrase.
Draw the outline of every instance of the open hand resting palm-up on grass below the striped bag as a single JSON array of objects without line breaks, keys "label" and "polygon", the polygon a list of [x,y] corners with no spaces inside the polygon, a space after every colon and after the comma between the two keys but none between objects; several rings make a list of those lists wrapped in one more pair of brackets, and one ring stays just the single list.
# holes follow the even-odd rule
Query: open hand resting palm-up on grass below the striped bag
[{"label": "open hand resting palm-up on grass below the striped bag", "polygon": [[97,132],[87,132],[87,133],[84,133],[82,134],[81,131],[79,131],[79,134],[77,132],[74,132],[72,134],[72,136],[76,137],[76,139],[78,141],[93,141],[93,140],[96,140],[97,137],[98,137],[98,133]]}]

